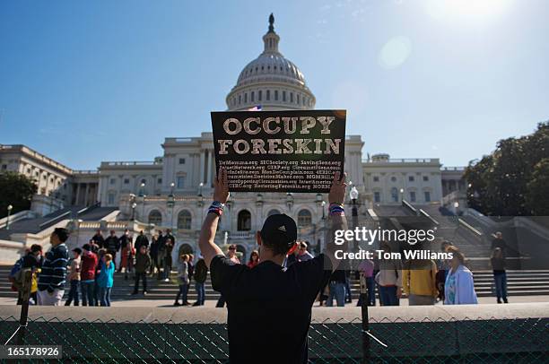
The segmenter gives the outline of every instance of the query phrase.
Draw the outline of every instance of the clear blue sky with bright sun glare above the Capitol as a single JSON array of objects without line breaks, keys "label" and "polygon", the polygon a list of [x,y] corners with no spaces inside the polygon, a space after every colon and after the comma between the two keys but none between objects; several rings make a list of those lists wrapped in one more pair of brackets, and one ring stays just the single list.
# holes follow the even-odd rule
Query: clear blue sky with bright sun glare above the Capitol
[{"label": "clear blue sky with bright sun glare above the Capitol", "polygon": [[465,165],[549,119],[545,0],[13,0],[0,143],[74,169],[152,160],[164,137],[211,130],[271,12],[317,108],[348,109],[364,156]]}]

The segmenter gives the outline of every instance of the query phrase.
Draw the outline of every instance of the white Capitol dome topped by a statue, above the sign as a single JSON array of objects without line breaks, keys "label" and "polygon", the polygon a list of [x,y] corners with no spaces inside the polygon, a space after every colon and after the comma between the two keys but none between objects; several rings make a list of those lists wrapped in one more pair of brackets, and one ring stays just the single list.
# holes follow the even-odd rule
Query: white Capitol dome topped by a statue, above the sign
[{"label": "white Capitol dome topped by a statue, above the sign", "polygon": [[247,110],[256,106],[264,110],[315,107],[315,96],[307,87],[300,69],[278,51],[279,41],[271,14],[269,29],[263,36],[263,53],[244,67],[237,84],[227,95],[230,110]]}]

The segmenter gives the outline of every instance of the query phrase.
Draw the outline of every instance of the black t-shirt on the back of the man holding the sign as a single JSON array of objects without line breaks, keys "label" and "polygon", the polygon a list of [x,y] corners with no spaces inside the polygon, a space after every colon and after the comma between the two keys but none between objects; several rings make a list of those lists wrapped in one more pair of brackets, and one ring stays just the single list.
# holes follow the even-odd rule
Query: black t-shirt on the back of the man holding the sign
[{"label": "black t-shirt on the back of the man holding the sign", "polygon": [[331,273],[323,255],[287,270],[215,256],[210,271],[213,289],[227,300],[231,362],[307,362],[310,310]]}]

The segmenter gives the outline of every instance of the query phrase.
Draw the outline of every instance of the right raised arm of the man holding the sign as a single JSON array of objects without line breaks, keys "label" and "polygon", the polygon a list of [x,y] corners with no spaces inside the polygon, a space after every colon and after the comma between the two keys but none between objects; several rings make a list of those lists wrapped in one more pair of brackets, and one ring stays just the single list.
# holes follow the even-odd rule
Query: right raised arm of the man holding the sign
[{"label": "right raised arm of the man holding the sign", "polygon": [[332,261],[332,271],[335,271],[340,263],[340,260],[335,258],[335,250],[347,250],[346,240],[341,246],[335,245],[335,231],[347,230],[347,219],[345,218],[343,207],[345,190],[347,188],[347,184],[345,183],[346,178],[346,174],[344,174],[342,178],[339,172],[335,172],[334,180],[332,181],[332,186],[330,187],[330,193],[328,194],[328,229],[326,235],[327,248],[325,254]]}]

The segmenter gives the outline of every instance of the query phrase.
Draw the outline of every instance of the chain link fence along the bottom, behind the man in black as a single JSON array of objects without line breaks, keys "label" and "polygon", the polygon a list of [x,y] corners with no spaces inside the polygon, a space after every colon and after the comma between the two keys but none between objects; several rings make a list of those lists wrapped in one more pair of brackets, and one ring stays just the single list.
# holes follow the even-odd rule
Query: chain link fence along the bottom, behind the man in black
[{"label": "chain link fence along the bottom, behind the man in black", "polygon": [[[0,317],[0,340],[18,327],[14,316]],[[362,352],[362,323],[326,320],[309,330],[314,363],[480,363],[547,362],[549,318],[489,320],[370,320],[380,341]],[[227,326],[216,322],[106,322],[29,320],[25,344],[62,345],[59,362],[225,363]],[[13,342],[10,342],[13,343]],[[29,360],[41,362],[41,360]],[[25,361],[27,362],[27,361]]]}]

